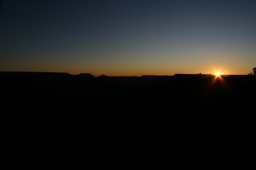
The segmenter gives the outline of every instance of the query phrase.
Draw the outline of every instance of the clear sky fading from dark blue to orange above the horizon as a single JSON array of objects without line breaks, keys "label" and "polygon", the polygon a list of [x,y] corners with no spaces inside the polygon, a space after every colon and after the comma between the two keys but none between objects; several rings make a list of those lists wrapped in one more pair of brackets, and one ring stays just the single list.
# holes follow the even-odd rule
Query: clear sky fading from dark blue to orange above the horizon
[{"label": "clear sky fading from dark blue to orange above the horizon", "polygon": [[256,66],[254,0],[1,3],[0,71],[248,74]]}]

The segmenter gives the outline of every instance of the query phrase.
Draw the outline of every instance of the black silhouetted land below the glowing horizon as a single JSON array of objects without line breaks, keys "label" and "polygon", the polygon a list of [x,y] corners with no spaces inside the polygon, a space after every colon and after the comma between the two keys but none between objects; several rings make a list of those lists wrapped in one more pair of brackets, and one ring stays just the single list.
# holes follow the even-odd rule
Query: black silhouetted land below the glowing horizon
[{"label": "black silhouetted land below the glowing horizon", "polygon": [[0,82],[7,167],[255,169],[256,77],[0,72]]}]

